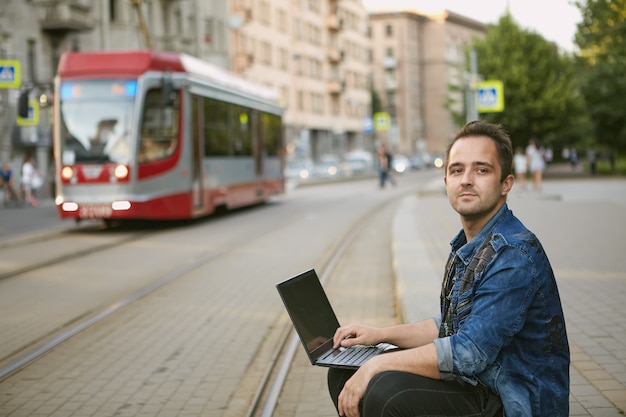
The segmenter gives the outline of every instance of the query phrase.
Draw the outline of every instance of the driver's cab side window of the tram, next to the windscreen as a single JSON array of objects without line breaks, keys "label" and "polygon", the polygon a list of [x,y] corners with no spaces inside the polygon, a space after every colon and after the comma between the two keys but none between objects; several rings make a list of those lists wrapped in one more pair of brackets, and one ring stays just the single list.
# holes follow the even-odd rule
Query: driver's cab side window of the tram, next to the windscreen
[{"label": "driver's cab side window of the tram, next to the windscreen", "polygon": [[148,91],[141,118],[139,162],[158,161],[176,151],[179,106],[178,94],[173,106],[164,106],[160,88]]}]

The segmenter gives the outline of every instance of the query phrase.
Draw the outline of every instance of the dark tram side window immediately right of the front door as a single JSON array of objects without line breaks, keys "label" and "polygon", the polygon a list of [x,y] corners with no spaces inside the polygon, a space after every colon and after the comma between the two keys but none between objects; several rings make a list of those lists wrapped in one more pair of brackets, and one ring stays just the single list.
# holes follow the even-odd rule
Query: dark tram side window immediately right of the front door
[{"label": "dark tram side window immediately right of the front door", "polygon": [[205,156],[228,156],[228,103],[204,99]]}]

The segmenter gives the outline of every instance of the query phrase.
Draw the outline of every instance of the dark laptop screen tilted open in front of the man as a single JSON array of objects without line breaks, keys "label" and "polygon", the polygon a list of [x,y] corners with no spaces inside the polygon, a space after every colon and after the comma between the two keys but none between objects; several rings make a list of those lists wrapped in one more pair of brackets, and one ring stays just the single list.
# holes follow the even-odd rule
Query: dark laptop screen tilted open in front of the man
[{"label": "dark laptop screen tilted open in front of the man", "polygon": [[332,348],[339,321],[315,270],[306,271],[276,287],[309,356],[317,357],[311,353],[325,343],[324,350]]}]

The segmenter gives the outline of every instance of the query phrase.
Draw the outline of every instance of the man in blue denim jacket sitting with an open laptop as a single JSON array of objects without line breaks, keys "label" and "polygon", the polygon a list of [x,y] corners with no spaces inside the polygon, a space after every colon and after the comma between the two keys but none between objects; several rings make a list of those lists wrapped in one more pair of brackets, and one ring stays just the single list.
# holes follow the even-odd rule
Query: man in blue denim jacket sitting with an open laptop
[{"label": "man in blue denim jacket sitting with an open laptop", "polygon": [[330,369],[340,415],[568,415],[569,347],[550,262],[513,215],[511,140],[467,124],[446,151],[444,183],[462,230],[451,242],[436,318],[337,329],[335,348],[399,349],[359,370]]}]

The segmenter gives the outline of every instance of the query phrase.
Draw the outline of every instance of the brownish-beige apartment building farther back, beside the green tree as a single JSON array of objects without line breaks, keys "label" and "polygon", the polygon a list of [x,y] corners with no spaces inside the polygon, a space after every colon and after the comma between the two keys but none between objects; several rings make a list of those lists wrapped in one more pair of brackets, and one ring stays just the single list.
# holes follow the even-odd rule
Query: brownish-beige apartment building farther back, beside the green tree
[{"label": "brownish-beige apartment building farther back, beside the green tree", "polygon": [[442,152],[458,130],[451,110],[463,111],[465,48],[484,36],[486,25],[446,10],[372,12],[369,18],[374,89],[391,116],[391,148]]}]

